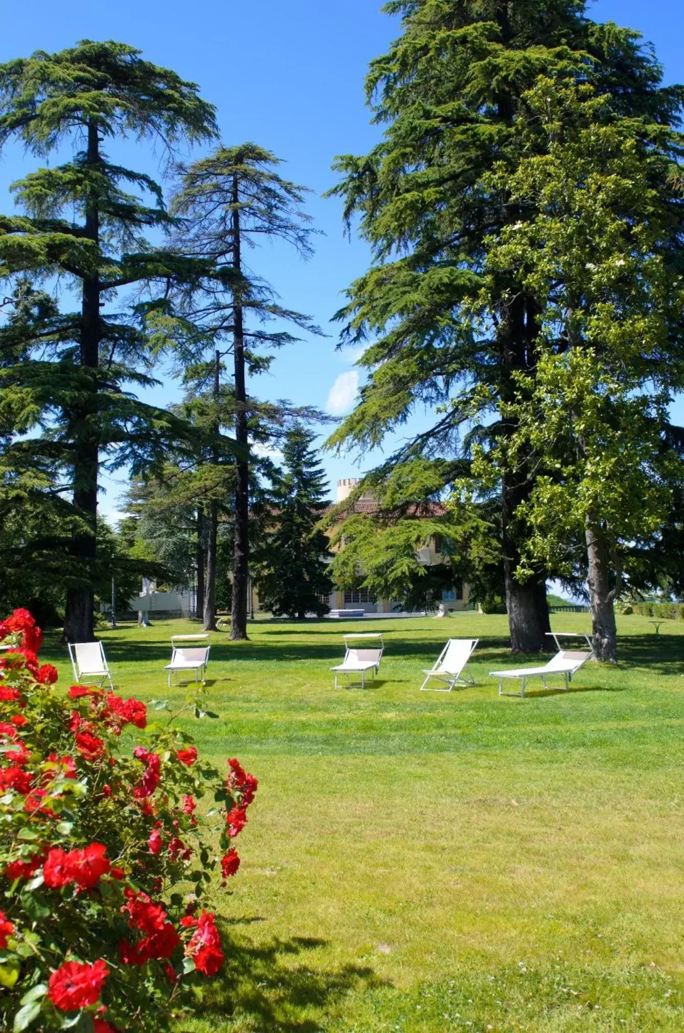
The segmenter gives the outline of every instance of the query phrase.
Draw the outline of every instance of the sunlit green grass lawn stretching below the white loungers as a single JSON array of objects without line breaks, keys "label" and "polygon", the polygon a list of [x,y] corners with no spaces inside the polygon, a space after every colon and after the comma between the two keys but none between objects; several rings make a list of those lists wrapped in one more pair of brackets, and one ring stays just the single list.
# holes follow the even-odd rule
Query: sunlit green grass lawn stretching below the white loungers
[{"label": "sunlit green grass lawn stretching below the white loungers", "polygon": [[[553,618],[587,630],[588,617]],[[220,898],[228,961],[183,1031],[684,1029],[684,623],[619,619],[620,664],[498,698],[504,617],[250,625],[213,636],[218,721],[259,778]],[[168,698],[169,636],[102,632],[117,690]],[[374,686],[332,688],[341,633],[382,630]],[[477,686],[419,692],[449,636]],[[62,684],[70,670],[57,647]],[[171,696],[182,698],[183,689]]]}]

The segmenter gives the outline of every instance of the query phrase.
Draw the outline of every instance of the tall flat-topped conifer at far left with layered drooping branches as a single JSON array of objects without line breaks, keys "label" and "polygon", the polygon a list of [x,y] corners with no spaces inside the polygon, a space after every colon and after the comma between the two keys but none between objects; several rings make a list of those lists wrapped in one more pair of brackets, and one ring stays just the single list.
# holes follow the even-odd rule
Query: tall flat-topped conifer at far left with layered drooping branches
[{"label": "tall flat-topped conifer at far left with layered drooping branches", "polygon": [[[22,216],[0,219],[0,276],[59,278],[74,311],[40,311],[0,327],[0,349],[24,335],[29,362],[2,368],[3,421],[14,434],[5,449],[26,467],[48,462],[60,488],[72,493],[80,522],[70,555],[65,634],[93,637],[97,564],[98,472],[134,471],[161,456],[180,421],[142,405],[127,384],[150,382],[148,339],[140,310],[120,299],[173,259],[151,251],[141,234],[170,225],[159,185],[109,160],[103,144],[130,137],[163,149],[215,135],[214,108],[197,87],[143,61],[124,43],[84,40],[0,66],[0,146],[17,138],[37,157],[71,149],[72,157],[40,167],[14,184]],[[171,263],[171,264],[169,264]]]}]

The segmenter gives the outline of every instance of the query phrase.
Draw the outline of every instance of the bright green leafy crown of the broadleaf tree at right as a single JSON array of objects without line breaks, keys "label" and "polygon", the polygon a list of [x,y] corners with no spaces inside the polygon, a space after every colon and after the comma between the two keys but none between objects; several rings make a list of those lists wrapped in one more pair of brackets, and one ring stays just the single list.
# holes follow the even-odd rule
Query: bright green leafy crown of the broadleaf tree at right
[{"label": "bright green leafy crown of the broadleaf tree at right", "polygon": [[[684,467],[667,440],[666,407],[684,382],[676,179],[684,140],[617,118],[589,86],[541,81],[517,133],[546,153],[502,165],[492,187],[521,213],[490,241],[487,286],[501,276],[536,299],[533,371],[515,376],[502,411],[516,427],[475,468],[512,469],[533,455],[520,507],[525,560],[572,576],[588,530],[611,558],[619,595],[634,542],[666,523]],[[529,568],[527,568],[529,569]]]}]

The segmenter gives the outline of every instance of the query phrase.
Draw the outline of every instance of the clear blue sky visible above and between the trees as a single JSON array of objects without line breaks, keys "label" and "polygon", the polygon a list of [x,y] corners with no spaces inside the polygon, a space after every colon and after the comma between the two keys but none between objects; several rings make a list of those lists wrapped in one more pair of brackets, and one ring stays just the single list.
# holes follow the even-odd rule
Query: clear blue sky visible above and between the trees
[{"label": "clear blue sky visible above and between the trees", "polygon": [[[11,17],[3,19],[0,61],[61,50],[85,37],[131,43],[149,60],[199,83],[218,107],[225,143],[252,139],[272,150],[287,160],[283,175],[312,189],[308,211],[325,234],[314,259],[303,263],[282,248],[266,247],[253,264],[285,305],[311,314],[331,336],[282,352],[254,394],[346,411],[357,373],[354,356],[335,351],[336,328],[329,320],[341,304],[340,291],[366,269],[368,252],[344,238],[339,202],[321,194],[334,183],[330,164],[336,154],[364,153],[378,139],[363,79],[369,60],[397,34],[397,22],[380,13],[379,0],[33,0],[26,7],[4,0],[2,8]],[[684,81],[681,0],[597,0],[592,8],[598,20],[639,29],[655,44],[665,79]],[[136,166],[154,170],[151,161],[145,153]],[[8,184],[33,164],[19,148],[8,150],[0,159],[0,196],[6,198]],[[10,205],[5,199],[0,210]],[[167,404],[176,396],[165,380],[153,398]],[[684,420],[684,405],[677,405],[676,415]],[[332,486],[358,472],[352,456],[324,462]],[[108,483],[101,500],[105,514],[113,515],[120,491],[118,482]]]}]

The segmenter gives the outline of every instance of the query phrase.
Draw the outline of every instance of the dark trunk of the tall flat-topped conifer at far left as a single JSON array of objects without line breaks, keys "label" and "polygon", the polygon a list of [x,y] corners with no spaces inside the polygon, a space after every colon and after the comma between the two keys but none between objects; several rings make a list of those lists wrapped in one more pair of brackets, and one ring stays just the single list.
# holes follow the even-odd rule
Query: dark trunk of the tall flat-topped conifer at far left
[{"label": "dark trunk of the tall flat-topped conifer at far left", "polygon": [[[97,167],[100,161],[97,122],[88,124],[87,164]],[[99,243],[99,208],[95,195],[88,198],[85,236]],[[73,464],[73,502],[86,524],[82,533],[74,535],[71,555],[86,584],[70,588],[66,596],[64,637],[67,641],[92,641],[94,592],[92,588],[94,563],[97,558],[97,477],[98,433],[97,368],[100,349],[100,282],[97,274],[84,278],[80,317],[79,362],[82,369],[92,370],[92,381],[85,401],[73,413],[75,433]]]}]

